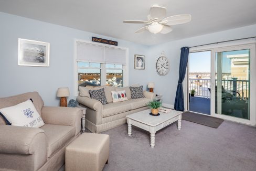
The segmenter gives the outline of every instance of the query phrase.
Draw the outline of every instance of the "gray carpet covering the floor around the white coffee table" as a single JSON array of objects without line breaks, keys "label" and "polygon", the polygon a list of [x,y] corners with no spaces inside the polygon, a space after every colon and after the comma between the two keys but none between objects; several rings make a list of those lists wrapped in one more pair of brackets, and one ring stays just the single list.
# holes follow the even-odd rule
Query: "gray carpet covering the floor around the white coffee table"
[{"label": "gray carpet covering the floor around the white coffee table", "polygon": [[148,132],[127,125],[110,135],[109,164],[104,170],[252,170],[256,168],[256,127],[223,122],[218,129],[182,120],[156,133],[155,148]]}]

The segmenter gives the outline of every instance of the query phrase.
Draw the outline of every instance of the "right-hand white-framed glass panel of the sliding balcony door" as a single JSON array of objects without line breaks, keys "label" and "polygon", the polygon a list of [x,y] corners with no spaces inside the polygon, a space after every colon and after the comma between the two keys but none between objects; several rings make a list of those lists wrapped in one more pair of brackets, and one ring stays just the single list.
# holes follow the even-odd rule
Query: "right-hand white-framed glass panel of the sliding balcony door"
[{"label": "right-hand white-framed glass panel of the sliding balcony door", "polygon": [[211,61],[211,114],[255,123],[255,44],[214,49]]}]

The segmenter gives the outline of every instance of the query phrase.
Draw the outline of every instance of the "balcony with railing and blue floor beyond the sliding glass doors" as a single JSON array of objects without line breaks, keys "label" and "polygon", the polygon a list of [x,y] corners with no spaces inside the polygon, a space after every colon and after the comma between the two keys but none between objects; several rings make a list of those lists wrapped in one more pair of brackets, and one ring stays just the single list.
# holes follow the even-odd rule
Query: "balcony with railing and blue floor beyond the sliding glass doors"
[{"label": "balcony with railing and blue floor beyond the sliding glass doors", "polygon": [[[217,80],[215,84],[217,85]],[[196,91],[195,97],[189,97],[189,110],[210,115],[211,80],[190,78],[188,86],[189,92],[191,92],[193,89]],[[249,81],[231,78],[228,80],[222,80],[221,87],[222,99],[227,98],[225,95],[228,94],[231,97],[228,97],[227,99],[233,99],[233,101],[237,100],[238,103],[236,104],[245,106],[245,108],[247,107],[246,105],[248,104],[249,100]],[[236,116],[239,115],[239,117],[246,118],[248,116],[248,114],[242,114],[244,112],[242,112],[240,109],[236,109],[235,106],[232,106],[227,102],[222,102],[221,105],[222,114],[226,114],[227,111],[229,111],[228,113],[231,115],[230,111],[232,111],[232,114]],[[248,113],[248,111],[246,113]]]}]

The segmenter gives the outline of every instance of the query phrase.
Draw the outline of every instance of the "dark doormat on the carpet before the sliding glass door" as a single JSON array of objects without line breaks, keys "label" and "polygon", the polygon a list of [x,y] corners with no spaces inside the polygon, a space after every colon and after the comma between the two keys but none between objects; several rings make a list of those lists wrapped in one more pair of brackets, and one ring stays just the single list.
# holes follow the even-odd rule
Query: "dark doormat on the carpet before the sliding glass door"
[{"label": "dark doormat on the carpet before the sliding glass door", "polygon": [[203,114],[197,114],[193,112],[184,112],[182,114],[182,119],[190,122],[195,122],[201,125],[206,125],[214,128],[218,128],[219,125],[224,121],[217,117],[206,116]]}]

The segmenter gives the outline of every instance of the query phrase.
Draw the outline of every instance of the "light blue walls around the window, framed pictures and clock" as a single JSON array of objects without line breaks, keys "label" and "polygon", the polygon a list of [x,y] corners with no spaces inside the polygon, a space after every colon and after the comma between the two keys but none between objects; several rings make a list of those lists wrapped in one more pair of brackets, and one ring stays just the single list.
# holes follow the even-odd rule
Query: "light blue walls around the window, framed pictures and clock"
[{"label": "light blue walls around the window, framed pictures and clock", "polygon": [[[59,104],[56,98],[59,87],[69,87],[69,99],[74,98],[75,39],[90,41],[95,36],[118,41],[119,46],[129,48],[129,84],[141,83],[145,89],[147,82],[154,81],[154,91],[164,95],[165,103],[174,104],[181,47],[256,36],[256,25],[251,25],[148,47],[6,13],[0,13],[0,22],[0,97],[38,91],[46,105]],[[49,42],[50,67],[18,66],[18,38]],[[171,63],[169,73],[163,77],[155,69],[161,51],[165,51]],[[134,70],[135,54],[146,56],[145,70]]]}]

